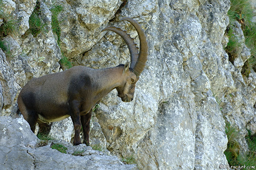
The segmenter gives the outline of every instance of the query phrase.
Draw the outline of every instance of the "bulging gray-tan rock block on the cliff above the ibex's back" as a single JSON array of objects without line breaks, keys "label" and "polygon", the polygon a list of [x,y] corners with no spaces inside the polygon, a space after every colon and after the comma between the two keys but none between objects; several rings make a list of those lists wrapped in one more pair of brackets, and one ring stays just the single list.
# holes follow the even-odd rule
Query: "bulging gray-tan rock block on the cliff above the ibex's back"
[{"label": "bulging gray-tan rock block on the cliff above the ibex's back", "polygon": [[103,37],[101,29],[121,5],[121,0],[57,1],[63,5],[61,20],[61,50],[69,58],[80,56]]}]

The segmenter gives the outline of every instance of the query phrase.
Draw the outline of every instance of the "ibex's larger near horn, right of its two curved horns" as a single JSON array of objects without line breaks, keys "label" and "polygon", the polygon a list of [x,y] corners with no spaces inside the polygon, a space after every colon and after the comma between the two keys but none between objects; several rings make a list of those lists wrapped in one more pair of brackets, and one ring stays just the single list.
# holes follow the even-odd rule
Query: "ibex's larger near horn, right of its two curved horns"
[{"label": "ibex's larger near horn, right of its two curved horns", "polygon": [[130,22],[134,26],[140,39],[140,53],[138,56],[138,60],[136,61],[134,66],[131,66],[133,72],[137,76],[140,76],[141,72],[144,70],[146,61],[148,60],[148,42],[146,40],[146,34],[137,21],[128,17],[121,19],[121,21],[123,20]]}]

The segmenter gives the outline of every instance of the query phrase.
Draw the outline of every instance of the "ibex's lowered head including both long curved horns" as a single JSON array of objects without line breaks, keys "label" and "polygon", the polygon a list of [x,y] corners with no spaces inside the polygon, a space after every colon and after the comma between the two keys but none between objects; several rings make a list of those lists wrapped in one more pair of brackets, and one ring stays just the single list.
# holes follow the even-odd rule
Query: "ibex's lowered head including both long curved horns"
[{"label": "ibex's lowered head including both long curved horns", "polygon": [[134,39],[131,38],[126,31],[116,28],[115,26],[109,26],[104,28],[102,31],[110,30],[115,32],[124,39],[129,48],[131,60],[130,67],[129,62],[125,65],[119,65],[120,67],[123,67],[123,81],[121,81],[120,85],[116,87],[116,90],[118,91],[118,97],[121,97],[123,102],[130,102],[133,100],[135,84],[139,80],[139,76],[144,70],[144,66],[148,59],[148,43],[145,32],[137,21],[127,17],[121,19],[121,21],[122,20],[127,20],[135,27],[140,39],[140,53],[138,53],[138,47],[133,42]]}]

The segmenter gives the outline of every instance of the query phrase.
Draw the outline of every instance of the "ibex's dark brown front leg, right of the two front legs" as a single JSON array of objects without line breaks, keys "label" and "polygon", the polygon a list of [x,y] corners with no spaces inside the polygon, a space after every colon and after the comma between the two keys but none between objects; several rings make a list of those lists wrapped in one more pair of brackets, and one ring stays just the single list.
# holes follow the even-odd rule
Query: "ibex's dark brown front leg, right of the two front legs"
[{"label": "ibex's dark brown front leg, right of the two front legs", "polygon": [[89,113],[81,116],[81,123],[83,127],[83,143],[90,146],[89,143],[89,133],[90,133],[90,120],[91,120],[91,110]]}]

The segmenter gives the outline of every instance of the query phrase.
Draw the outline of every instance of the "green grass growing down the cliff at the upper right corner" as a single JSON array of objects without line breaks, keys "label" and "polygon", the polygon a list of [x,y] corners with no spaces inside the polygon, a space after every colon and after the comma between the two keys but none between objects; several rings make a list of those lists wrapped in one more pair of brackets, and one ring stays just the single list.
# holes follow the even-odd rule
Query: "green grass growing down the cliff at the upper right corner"
[{"label": "green grass growing down the cliff at the upper right corner", "polygon": [[[231,0],[231,6],[228,11],[229,25],[232,25],[235,20],[239,21],[242,25],[243,34],[245,36],[245,45],[250,48],[251,56],[245,62],[241,73],[249,76],[251,69],[256,71],[256,23],[251,22],[253,17],[253,9],[249,0]],[[230,27],[230,26],[229,26]],[[232,63],[237,57],[236,50],[241,48],[241,44],[234,36],[232,29],[228,30],[229,42],[226,52],[229,55],[229,61]]]}]

